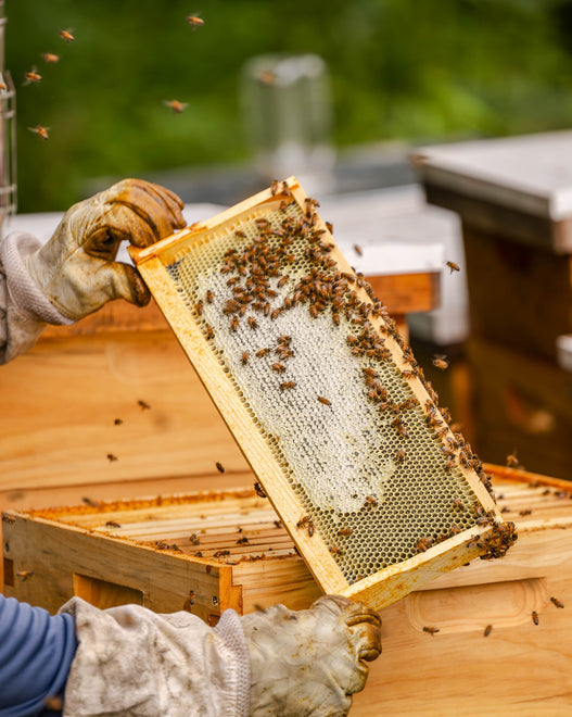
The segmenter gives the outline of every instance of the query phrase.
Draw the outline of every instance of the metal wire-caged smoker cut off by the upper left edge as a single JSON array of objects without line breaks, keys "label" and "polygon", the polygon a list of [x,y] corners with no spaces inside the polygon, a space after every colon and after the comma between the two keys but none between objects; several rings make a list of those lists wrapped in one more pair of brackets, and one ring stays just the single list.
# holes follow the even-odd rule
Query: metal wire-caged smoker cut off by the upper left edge
[{"label": "metal wire-caged smoker cut off by the upper left edge", "polygon": [[16,212],[16,92],[5,58],[5,0],[0,0],[0,236]]}]

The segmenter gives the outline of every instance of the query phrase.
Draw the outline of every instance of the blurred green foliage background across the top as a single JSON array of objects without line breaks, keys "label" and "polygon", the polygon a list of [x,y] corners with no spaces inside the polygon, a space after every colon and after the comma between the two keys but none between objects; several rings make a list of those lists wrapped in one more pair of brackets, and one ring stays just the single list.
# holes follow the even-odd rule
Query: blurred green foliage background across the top
[{"label": "blurred green foliage background across the top", "polygon": [[[240,71],[267,52],[323,58],[342,150],[572,125],[571,0],[8,0],[7,14],[20,212],[66,209],[94,177],[246,164]],[[34,66],[42,81],[23,85]]]}]

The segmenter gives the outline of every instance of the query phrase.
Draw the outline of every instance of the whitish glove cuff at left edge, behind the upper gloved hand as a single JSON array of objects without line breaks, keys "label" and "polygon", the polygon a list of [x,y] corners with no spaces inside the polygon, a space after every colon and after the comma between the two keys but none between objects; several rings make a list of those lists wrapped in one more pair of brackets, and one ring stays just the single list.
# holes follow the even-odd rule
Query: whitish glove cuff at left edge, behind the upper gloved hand
[{"label": "whitish glove cuff at left edge, behind the upper gloved hand", "polygon": [[41,243],[15,231],[0,243],[0,364],[30,349],[47,324],[73,324],[48,301],[27,268]]}]

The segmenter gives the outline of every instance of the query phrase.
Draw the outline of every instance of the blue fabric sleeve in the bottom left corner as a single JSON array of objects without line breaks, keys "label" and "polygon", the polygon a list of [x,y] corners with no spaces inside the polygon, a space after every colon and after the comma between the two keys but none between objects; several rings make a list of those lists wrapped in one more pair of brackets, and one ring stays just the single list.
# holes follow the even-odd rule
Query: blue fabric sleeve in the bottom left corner
[{"label": "blue fabric sleeve in the bottom left corner", "polygon": [[72,615],[0,594],[0,717],[42,714],[62,694],[77,649]]}]

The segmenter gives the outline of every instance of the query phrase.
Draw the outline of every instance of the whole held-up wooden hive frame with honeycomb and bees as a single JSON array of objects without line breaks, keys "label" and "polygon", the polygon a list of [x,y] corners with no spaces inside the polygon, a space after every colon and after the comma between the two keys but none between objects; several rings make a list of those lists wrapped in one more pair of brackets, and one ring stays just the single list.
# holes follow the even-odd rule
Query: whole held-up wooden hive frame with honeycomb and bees
[{"label": "whole held-up wooden hive frame with honeycomb and bees", "polygon": [[381,608],[514,539],[290,178],[134,261],[325,592]]}]

